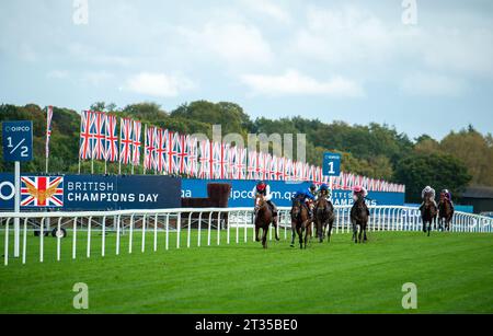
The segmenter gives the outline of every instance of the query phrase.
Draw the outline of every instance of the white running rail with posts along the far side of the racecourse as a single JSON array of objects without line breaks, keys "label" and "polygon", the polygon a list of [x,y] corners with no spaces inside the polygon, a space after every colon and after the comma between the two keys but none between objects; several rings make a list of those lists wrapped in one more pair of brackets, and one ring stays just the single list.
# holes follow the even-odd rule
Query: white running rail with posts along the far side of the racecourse
[{"label": "white running rail with posts along the far side of the racecourse", "polygon": [[[290,233],[290,208],[279,208],[279,236],[287,240]],[[349,220],[351,207],[335,207],[336,219],[333,233],[348,233],[352,230]],[[39,262],[45,256],[45,233],[68,232],[67,237],[56,234],[56,259],[61,258],[61,244],[70,244],[71,258],[78,256],[78,236],[83,235],[85,256],[91,257],[93,240],[101,239],[101,256],[107,252],[106,235],[114,233],[114,253],[121,254],[123,240],[128,253],[135,247],[135,233],[141,234],[140,251],[146,251],[146,242],[151,240],[152,250],[159,246],[169,250],[170,240],[175,248],[183,246],[220,245],[254,241],[252,208],[203,208],[203,209],[163,209],[163,210],[121,210],[93,212],[0,212],[0,228],[3,234],[4,265],[9,264],[9,254],[20,257],[26,263],[27,234],[38,233]],[[42,230],[43,228],[43,230]],[[420,231],[422,221],[417,208],[398,206],[370,207],[368,231]],[[268,239],[273,239],[270,230]],[[493,219],[456,212],[451,222],[451,232],[493,232]],[[98,235],[95,234],[98,233]],[[11,237],[13,235],[13,237]],[[70,236],[71,235],[71,236]],[[205,235],[205,236],[204,236]],[[226,237],[225,237],[226,235]],[[22,239],[22,242],[21,242]],[[110,239],[110,236],[107,237]],[[13,243],[11,244],[11,240]],[[161,244],[164,240],[163,244]],[[30,239],[30,242],[32,240]],[[11,245],[9,245],[11,244]],[[112,245],[113,246],[113,245]],[[12,248],[13,247],[13,248]],[[80,250],[81,247],[79,247]],[[13,252],[11,252],[13,250]],[[22,250],[22,251],[21,251]],[[32,253],[32,248],[28,251]],[[112,253],[113,253],[112,252]]]}]

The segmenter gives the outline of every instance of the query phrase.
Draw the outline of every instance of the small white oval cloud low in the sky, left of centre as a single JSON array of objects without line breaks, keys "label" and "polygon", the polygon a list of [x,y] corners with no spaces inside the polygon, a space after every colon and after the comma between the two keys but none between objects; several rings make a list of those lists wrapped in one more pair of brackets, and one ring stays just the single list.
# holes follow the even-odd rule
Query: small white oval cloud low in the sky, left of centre
[{"label": "small white oval cloud low in the sky, left of centre", "polygon": [[194,88],[195,83],[185,77],[150,72],[141,72],[129,78],[124,86],[134,93],[154,97],[176,96]]}]

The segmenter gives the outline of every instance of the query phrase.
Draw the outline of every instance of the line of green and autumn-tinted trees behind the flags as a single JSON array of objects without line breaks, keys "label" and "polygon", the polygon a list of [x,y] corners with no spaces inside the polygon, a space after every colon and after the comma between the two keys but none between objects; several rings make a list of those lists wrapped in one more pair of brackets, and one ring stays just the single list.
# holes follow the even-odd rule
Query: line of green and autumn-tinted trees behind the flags
[{"label": "line of green and autumn-tinted trees behind the flags", "polygon": [[[472,126],[458,132],[450,131],[438,141],[428,135],[410,139],[394,127],[376,123],[326,124],[301,116],[252,119],[240,105],[230,102],[195,101],[171,112],[156,103],[130,104],[118,108],[115,104],[98,102],[90,109],[119,117],[129,116],[182,134],[200,132],[208,137],[211,137],[213,125],[221,125],[223,135],[237,132],[245,141],[249,134],[306,134],[308,162],[321,165],[323,152],[340,152],[343,155],[343,171],[405,184],[408,201],[419,201],[425,185],[436,189],[449,188],[456,198],[469,185],[493,186],[493,137],[491,134],[480,134]],[[33,120],[34,124],[34,160],[26,163],[23,171],[43,172],[46,109],[35,104],[0,105],[1,121],[23,119]],[[54,106],[50,172],[78,171],[79,129],[80,115],[76,111]],[[95,172],[103,172],[101,165],[95,163]],[[89,163],[84,162],[82,170],[89,172],[88,166]],[[12,164],[0,160],[0,170],[12,171]],[[108,172],[116,173],[116,165],[111,165]]]}]

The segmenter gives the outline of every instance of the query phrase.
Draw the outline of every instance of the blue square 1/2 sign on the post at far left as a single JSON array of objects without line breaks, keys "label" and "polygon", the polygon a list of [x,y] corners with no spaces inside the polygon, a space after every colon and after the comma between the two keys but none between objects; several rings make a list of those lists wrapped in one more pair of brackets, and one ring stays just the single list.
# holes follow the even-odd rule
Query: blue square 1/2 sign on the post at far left
[{"label": "blue square 1/2 sign on the post at far left", "polygon": [[3,160],[33,160],[33,121],[2,123]]}]

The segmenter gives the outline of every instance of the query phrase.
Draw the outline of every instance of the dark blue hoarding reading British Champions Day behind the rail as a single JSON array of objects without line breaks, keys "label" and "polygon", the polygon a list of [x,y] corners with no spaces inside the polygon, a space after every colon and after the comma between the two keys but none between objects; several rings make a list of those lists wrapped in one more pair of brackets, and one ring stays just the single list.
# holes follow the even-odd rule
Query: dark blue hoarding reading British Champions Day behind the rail
[{"label": "dark blue hoarding reading British Champions Day behind the rail", "polygon": [[[0,209],[12,210],[13,174],[0,174]],[[170,176],[21,175],[21,209],[117,210],[181,207],[181,178]]]}]

